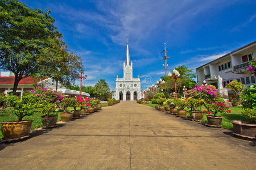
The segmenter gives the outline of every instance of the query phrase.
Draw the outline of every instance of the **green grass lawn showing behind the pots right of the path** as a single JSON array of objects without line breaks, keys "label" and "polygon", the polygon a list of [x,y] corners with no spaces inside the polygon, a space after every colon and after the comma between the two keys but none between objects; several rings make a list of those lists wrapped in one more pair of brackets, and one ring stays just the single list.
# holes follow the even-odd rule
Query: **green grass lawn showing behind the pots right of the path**
[{"label": "green grass lawn showing behind the pots right of the path", "polygon": [[[143,103],[143,104],[155,108],[155,104],[151,104],[151,103],[148,103],[148,104]],[[229,109],[231,110],[231,113],[218,115],[218,116],[222,117],[221,125],[225,129],[233,129],[233,124],[230,122],[232,120],[245,121],[245,117],[242,117],[242,115],[241,115],[242,107],[230,107]],[[186,108],[185,110],[187,110],[187,117],[190,117],[189,112],[188,112],[189,109]],[[202,111],[203,110],[204,110],[204,108],[202,108]],[[202,122],[207,122],[207,113],[204,114]]]}]

